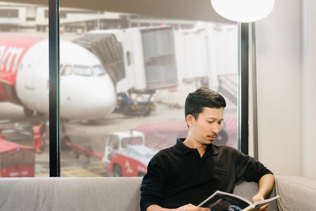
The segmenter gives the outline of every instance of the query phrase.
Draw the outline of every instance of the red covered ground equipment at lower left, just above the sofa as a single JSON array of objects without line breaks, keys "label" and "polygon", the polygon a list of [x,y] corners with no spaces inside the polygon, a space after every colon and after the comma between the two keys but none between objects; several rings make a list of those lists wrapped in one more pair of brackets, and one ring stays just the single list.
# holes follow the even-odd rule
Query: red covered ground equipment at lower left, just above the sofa
[{"label": "red covered ground equipment at lower left, just above the sofa", "polygon": [[0,138],[0,177],[34,177],[35,149]]}]

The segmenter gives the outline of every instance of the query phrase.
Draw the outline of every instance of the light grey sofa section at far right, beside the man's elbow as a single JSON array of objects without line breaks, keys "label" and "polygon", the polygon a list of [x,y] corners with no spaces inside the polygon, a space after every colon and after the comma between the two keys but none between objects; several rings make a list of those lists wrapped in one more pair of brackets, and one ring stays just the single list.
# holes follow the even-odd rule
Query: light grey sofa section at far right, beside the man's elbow
[{"label": "light grey sofa section at far right, beside the man's elbow", "polygon": [[280,211],[315,210],[316,179],[301,176],[276,176],[276,194]]}]

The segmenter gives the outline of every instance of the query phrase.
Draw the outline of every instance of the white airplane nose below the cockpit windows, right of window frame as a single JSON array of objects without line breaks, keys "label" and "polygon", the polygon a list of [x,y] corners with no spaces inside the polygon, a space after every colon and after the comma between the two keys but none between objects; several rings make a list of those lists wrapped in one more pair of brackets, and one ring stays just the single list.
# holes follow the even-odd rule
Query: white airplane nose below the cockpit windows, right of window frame
[{"label": "white airplane nose below the cockpit windows, right of window frame", "polygon": [[76,84],[61,80],[61,115],[69,119],[89,120],[112,113],[117,99],[109,75],[81,77],[78,76]]}]

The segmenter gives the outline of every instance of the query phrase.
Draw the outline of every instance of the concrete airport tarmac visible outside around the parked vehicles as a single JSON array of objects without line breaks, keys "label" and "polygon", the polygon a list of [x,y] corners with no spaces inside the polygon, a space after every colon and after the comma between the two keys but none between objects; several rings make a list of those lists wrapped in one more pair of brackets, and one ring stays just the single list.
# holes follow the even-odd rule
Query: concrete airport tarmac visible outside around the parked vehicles
[{"label": "concrete airport tarmac visible outside around the parked vehicles", "polygon": [[[189,88],[190,90],[190,88]],[[195,87],[191,87],[191,90],[195,90]],[[167,94],[168,95],[168,94]],[[174,95],[177,95],[177,101],[185,101],[187,93],[169,93],[170,96],[163,96],[161,99],[166,99],[168,103],[174,103],[170,99],[174,99]],[[182,95],[182,96],[179,96]],[[172,97],[173,96],[173,97]],[[232,139],[237,139],[236,124],[236,106],[228,102],[228,106],[224,110],[224,118],[233,119],[232,128],[233,131],[230,136]],[[7,130],[3,131],[6,135],[6,139],[12,142],[16,142],[26,146],[33,146],[33,125],[43,120],[45,117],[39,117],[34,115],[32,118],[26,118],[23,113],[23,108],[18,105],[14,105],[7,102],[0,103],[0,127],[7,127]],[[47,117],[46,117],[47,118]],[[225,119],[224,119],[225,121]],[[70,137],[71,142],[79,146],[90,146],[96,153],[104,154],[105,140],[111,132],[130,131],[131,129],[141,128],[141,125],[164,125],[166,123],[181,123],[182,131],[181,136],[186,136],[187,129],[185,124],[184,108],[172,108],[168,105],[157,105],[155,111],[151,112],[148,116],[140,114],[125,116],[121,112],[113,112],[108,116],[100,119],[89,120],[82,122],[81,120],[70,120],[69,122],[62,122],[62,127],[65,128],[65,134]],[[42,150],[41,154],[35,155],[35,176],[36,177],[49,177],[49,121],[46,120],[46,148]],[[11,127],[11,128],[10,128]],[[173,127],[177,127],[177,125]],[[169,128],[174,130],[175,128]],[[167,129],[168,130],[168,129]],[[234,132],[235,131],[235,132]],[[160,136],[170,131],[160,131]],[[177,135],[177,134],[173,134]],[[170,136],[171,137],[171,136]],[[176,137],[176,136],[175,136]],[[176,139],[168,140],[165,147],[172,146]],[[146,137],[145,137],[146,141]],[[155,142],[155,140],[152,140]],[[162,146],[161,146],[162,147]],[[159,149],[159,148],[157,148]],[[71,150],[61,151],[61,176],[62,177],[106,177],[112,176],[111,173],[106,172],[102,166],[100,159],[90,157],[87,158],[84,154],[80,155],[78,159],[74,157],[74,153]]]}]

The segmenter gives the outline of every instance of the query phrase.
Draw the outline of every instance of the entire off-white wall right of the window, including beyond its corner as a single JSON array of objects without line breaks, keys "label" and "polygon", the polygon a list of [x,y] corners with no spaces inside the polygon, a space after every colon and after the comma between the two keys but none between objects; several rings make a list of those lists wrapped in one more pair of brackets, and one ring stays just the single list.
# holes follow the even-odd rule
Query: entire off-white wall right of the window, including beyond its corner
[{"label": "entire off-white wall right of the window, including beyond its corner", "polygon": [[258,153],[275,174],[316,178],[315,12],[313,0],[278,0],[256,22]]}]

